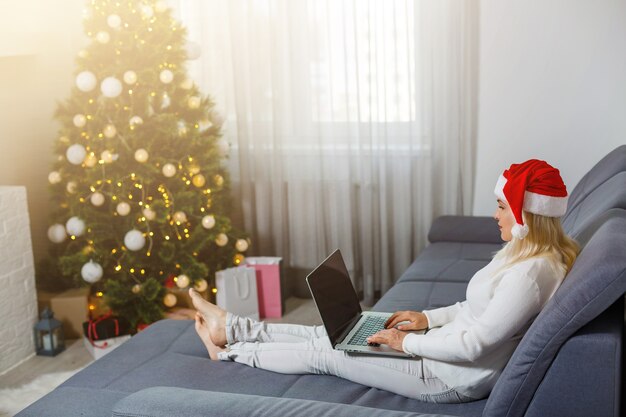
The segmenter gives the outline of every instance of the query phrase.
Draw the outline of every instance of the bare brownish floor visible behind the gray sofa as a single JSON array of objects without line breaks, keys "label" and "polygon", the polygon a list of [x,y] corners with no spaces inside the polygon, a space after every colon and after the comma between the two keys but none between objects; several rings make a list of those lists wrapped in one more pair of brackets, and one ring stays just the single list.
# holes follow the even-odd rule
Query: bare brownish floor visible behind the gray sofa
[{"label": "bare brownish floor visible behind the gray sofa", "polygon": [[[315,303],[311,299],[288,298],[285,314],[280,319],[267,319],[268,322],[286,322],[306,325],[321,324]],[[81,339],[66,341],[66,349],[55,357],[33,356],[16,368],[0,377],[1,388],[17,388],[31,382],[39,375],[66,372],[93,362]]]}]

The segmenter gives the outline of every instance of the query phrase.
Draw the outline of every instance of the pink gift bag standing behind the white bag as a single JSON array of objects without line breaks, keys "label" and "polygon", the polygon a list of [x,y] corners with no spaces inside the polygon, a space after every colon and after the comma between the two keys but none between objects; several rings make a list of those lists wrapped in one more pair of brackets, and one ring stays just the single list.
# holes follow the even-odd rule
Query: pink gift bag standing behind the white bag
[{"label": "pink gift bag standing behind the white bag", "polygon": [[256,271],[256,286],[259,294],[259,315],[261,318],[276,318],[283,315],[283,301],[280,289],[280,261],[282,258],[249,257],[246,265]]}]

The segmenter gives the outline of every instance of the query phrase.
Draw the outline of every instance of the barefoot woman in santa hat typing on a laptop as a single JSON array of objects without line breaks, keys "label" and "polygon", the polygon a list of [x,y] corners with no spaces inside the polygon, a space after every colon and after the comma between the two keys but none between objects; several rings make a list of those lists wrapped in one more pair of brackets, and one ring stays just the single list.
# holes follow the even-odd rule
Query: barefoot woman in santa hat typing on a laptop
[{"label": "barefoot woman in santa hat typing on a laptop", "polygon": [[[567,190],[545,161],[513,164],[500,176],[494,215],[507,244],[470,280],[466,301],[394,313],[368,342],[414,355],[350,355],[322,326],[266,324],[234,316],[190,290],[196,331],[211,359],[288,374],[331,374],[422,401],[487,396],[517,344],[572,267],[578,247],[559,217]],[[428,329],[423,335],[410,330]]]}]

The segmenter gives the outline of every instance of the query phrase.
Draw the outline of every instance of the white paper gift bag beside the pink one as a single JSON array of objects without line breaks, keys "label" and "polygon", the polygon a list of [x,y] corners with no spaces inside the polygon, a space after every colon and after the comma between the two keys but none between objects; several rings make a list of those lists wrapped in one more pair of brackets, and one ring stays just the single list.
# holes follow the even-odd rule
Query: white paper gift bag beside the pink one
[{"label": "white paper gift bag beside the pink one", "polygon": [[217,305],[241,317],[259,319],[256,273],[253,268],[239,266],[215,273]]}]

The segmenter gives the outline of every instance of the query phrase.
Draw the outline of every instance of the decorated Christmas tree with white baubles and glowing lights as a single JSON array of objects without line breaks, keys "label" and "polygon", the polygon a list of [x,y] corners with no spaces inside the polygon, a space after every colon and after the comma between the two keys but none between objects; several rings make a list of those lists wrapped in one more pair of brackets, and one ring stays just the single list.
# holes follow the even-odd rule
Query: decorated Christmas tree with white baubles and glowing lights
[{"label": "decorated Christmas tree with white baubles and glowing lights", "polygon": [[87,11],[90,44],[55,115],[48,276],[97,286],[115,313],[149,324],[176,304],[168,287],[213,289],[249,241],[229,218],[228,143],[186,75],[197,48],[185,29],[164,1]]}]

